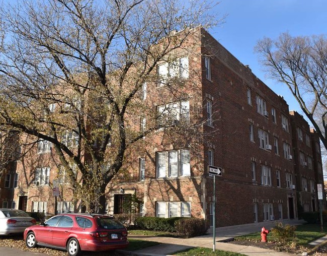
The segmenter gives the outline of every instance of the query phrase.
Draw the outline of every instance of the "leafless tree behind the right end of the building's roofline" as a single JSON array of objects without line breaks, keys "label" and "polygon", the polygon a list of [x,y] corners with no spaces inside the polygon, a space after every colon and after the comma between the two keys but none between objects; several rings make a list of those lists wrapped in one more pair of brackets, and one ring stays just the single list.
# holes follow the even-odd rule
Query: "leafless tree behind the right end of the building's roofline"
[{"label": "leafless tree behind the right end of the building's roofline", "polygon": [[271,78],[287,85],[327,149],[327,39],[321,36],[264,38],[255,50]]}]

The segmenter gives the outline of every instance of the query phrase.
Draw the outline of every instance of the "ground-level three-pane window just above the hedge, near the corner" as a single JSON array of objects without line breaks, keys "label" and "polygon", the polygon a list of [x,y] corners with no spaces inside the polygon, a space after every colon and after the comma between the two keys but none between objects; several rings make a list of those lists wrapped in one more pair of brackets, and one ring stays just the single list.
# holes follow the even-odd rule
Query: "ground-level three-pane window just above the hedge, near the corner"
[{"label": "ground-level three-pane window just above the hedge, near the corner", "polygon": [[157,202],[156,217],[191,217],[191,203],[189,202]]}]

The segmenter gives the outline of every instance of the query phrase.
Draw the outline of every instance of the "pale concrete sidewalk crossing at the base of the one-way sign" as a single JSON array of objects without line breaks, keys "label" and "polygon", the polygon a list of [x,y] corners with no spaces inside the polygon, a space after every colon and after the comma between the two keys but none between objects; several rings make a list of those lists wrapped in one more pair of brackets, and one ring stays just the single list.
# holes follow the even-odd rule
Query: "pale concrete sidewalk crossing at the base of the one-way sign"
[{"label": "pale concrete sidewalk crossing at the base of the one-way sign", "polygon": [[[288,220],[283,221],[284,224],[300,225],[304,224],[303,220]],[[286,252],[273,251],[265,248],[248,246],[248,245],[238,245],[232,243],[225,243],[224,241],[231,240],[235,236],[240,236],[249,233],[255,233],[261,231],[261,228],[265,226],[266,229],[271,229],[275,226],[275,222],[267,223],[254,223],[246,225],[237,225],[229,227],[216,228],[216,250],[226,250],[232,252],[243,253],[245,255],[251,256],[261,256],[261,255],[274,255],[274,256],[287,256],[294,255]],[[191,247],[206,247],[213,248],[213,230],[209,230],[209,233],[204,236],[192,237],[192,238],[173,238],[173,237],[144,237],[144,236],[129,236],[129,238],[156,241],[161,244],[143,248],[136,251],[120,251],[127,255],[151,255],[151,256],[161,256],[161,255],[172,255],[177,251],[184,250]]]}]

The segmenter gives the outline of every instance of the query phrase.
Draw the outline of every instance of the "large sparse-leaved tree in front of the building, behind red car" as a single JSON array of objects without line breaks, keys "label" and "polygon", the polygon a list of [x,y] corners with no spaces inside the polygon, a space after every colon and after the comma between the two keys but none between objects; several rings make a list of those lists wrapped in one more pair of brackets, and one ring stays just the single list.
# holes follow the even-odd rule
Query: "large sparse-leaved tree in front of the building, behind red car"
[{"label": "large sparse-leaved tree in front of the building, behind red car", "polygon": [[[121,171],[126,150],[172,126],[157,121],[165,109],[158,113],[154,103],[140,104],[142,87],[156,83],[158,63],[174,61],[177,49],[192,50],[194,28],[216,23],[211,8],[174,0],[44,0],[3,7],[0,125],[35,143],[51,142],[87,210],[104,210],[106,186]],[[161,93],[183,99],[183,84],[171,79]],[[138,129],[142,114],[146,125]],[[190,124],[179,126],[175,130],[185,138],[195,134]]]}]

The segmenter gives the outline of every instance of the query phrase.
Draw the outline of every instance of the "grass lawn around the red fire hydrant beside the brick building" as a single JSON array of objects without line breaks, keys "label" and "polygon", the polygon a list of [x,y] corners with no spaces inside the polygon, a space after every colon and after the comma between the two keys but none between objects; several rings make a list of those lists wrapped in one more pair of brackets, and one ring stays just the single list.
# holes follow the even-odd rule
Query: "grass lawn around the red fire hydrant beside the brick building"
[{"label": "grass lawn around the red fire hydrant beside the brick building", "polygon": [[[325,236],[327,234],[327,228],[324,229],[324,232],[320,232],[320,224],[304,224],[296,226],[295,235],[296,235],[296,243],[298,245],[307,246],[310,242]],[[250,241],[258,241],[261,239],[260,232],[251,233],[247,235],[237,236],[235,240],[250,240]],[[267,235],[268,241],[276,241],[274,236],[269,233]]]}]

